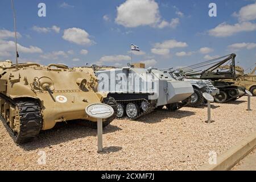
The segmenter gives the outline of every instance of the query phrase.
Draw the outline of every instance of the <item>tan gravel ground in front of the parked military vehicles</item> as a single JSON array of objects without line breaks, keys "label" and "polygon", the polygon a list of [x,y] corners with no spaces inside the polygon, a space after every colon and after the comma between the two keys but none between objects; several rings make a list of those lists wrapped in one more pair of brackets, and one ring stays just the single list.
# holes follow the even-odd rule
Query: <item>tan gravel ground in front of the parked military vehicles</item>
[{"label": "tan gravel ground in front of the parked military vehicles", "polygon": [[[256,129],[247,97],[213,104],[215,122],[205,123],[207,107],[183,107],[174,113],[154,111],[138,121],[114,120],[104,130],[104,152],[97,153],[97,131],[76,122],[42,131],[16,146],[0,124],[1,170],[195,170],[209,152],[228,150]],[[46,164],[44,164],[44,154]]]}]

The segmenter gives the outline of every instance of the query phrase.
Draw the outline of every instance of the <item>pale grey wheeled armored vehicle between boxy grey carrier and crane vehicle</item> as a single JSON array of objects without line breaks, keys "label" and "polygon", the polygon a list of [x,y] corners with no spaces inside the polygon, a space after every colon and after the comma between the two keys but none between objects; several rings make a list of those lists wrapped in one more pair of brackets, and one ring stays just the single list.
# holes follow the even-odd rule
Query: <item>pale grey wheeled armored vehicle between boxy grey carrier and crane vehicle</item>
[{"label": "pale grey wheeled armored vehicle between boxy grey carrier and crane vehicle", "polygon": [[203,97],[204,92],[209,93],[213,97],[220,93],[220,90],[214,87],[210,80],[188,79],[185,78],[184,73],[179,70],[161,69],[161,71],[171,75],[175,80],[191,82],[194,93],[191,96],[191,103],[188,106],[197,107],[204,104],[206,102]]}]

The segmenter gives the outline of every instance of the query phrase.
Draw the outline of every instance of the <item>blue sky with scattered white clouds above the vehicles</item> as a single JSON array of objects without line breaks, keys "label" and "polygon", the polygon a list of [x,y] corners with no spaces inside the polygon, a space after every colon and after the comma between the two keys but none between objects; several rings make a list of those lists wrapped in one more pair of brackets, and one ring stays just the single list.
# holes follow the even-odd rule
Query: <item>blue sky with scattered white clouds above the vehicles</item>
[{"label": "blue sky with scattered white clouds above the vehicles", "polygon": [[[46,17],[38,4],[46,4]],[[217,17],[208,15],[209,3]],[[142,61],[158,68],[182,67],[237,53],[249,68],[256,60],[254,0],[106,0],[17,1],[20,62],[122,66],[130,62],[130,44]],[[0,2],[0,60],[14,60],[13,12]]]}]

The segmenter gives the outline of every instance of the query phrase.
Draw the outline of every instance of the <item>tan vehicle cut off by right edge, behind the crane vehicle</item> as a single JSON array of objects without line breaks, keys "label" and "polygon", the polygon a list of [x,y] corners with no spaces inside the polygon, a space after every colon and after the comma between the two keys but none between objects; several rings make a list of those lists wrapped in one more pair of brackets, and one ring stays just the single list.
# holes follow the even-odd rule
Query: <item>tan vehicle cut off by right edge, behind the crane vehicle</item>
[{"label": "tan vehicle cut off by right edge, behind the crane vehicle", "polygon": [[[229,69],[229,66],[221,67],[224,69]],[[256,96],[256,75],[255,75],[256,67],[254,70],[249,73],[245,74],[242,67],[236,66],[237,78],[235,80],[224,80],[234,82],[235,85],[243,86],[247,90],[249,90],[253,96]]]}]

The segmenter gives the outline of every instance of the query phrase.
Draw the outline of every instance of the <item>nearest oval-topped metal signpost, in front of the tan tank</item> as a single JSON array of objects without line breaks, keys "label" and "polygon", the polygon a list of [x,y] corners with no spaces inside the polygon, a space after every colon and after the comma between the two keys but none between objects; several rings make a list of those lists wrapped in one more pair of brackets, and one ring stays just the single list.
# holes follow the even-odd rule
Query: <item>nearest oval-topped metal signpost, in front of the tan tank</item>
[{"label": "nearest oval-topped metal signpost, in front of the tan tank", "polygon": [[85,109],[86,114],[90,117],[97,119],[97,137],[98,137],[98,152],[102,152],[103,141],[102,141],[102,119],[112,117],[114,110],[111,106],[106,104],[91,104]]}]

